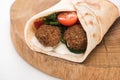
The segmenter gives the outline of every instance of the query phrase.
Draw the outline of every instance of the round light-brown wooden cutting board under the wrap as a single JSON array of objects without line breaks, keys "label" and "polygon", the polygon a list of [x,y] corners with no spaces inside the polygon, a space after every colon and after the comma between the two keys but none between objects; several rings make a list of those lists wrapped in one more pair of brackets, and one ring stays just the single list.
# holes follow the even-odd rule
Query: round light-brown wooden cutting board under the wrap
[{"label": "round light-brown wooden cutting board under the wrap", "polygon": [[24,40],[26,21],[57,2],[59,0],[15,1],[11,8],[11,35],[19,55],[40,71],[64,80],[120,80],[120,18],[81,64],[28,48]]}]

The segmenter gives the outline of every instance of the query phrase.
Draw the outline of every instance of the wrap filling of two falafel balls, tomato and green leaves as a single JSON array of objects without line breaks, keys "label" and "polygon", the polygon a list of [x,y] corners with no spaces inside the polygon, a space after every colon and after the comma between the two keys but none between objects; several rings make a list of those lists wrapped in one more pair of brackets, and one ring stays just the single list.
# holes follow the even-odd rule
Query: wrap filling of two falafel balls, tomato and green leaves
[{"label": "wrap filling of two falafel balls, tomato and green leaves", "polygon": [[86,32],[78,20],[77,13],[58,12],[34,21],[37,40],[44,47],[57,47],[64,44],[76,54],[84,53],[87,48]]}]

